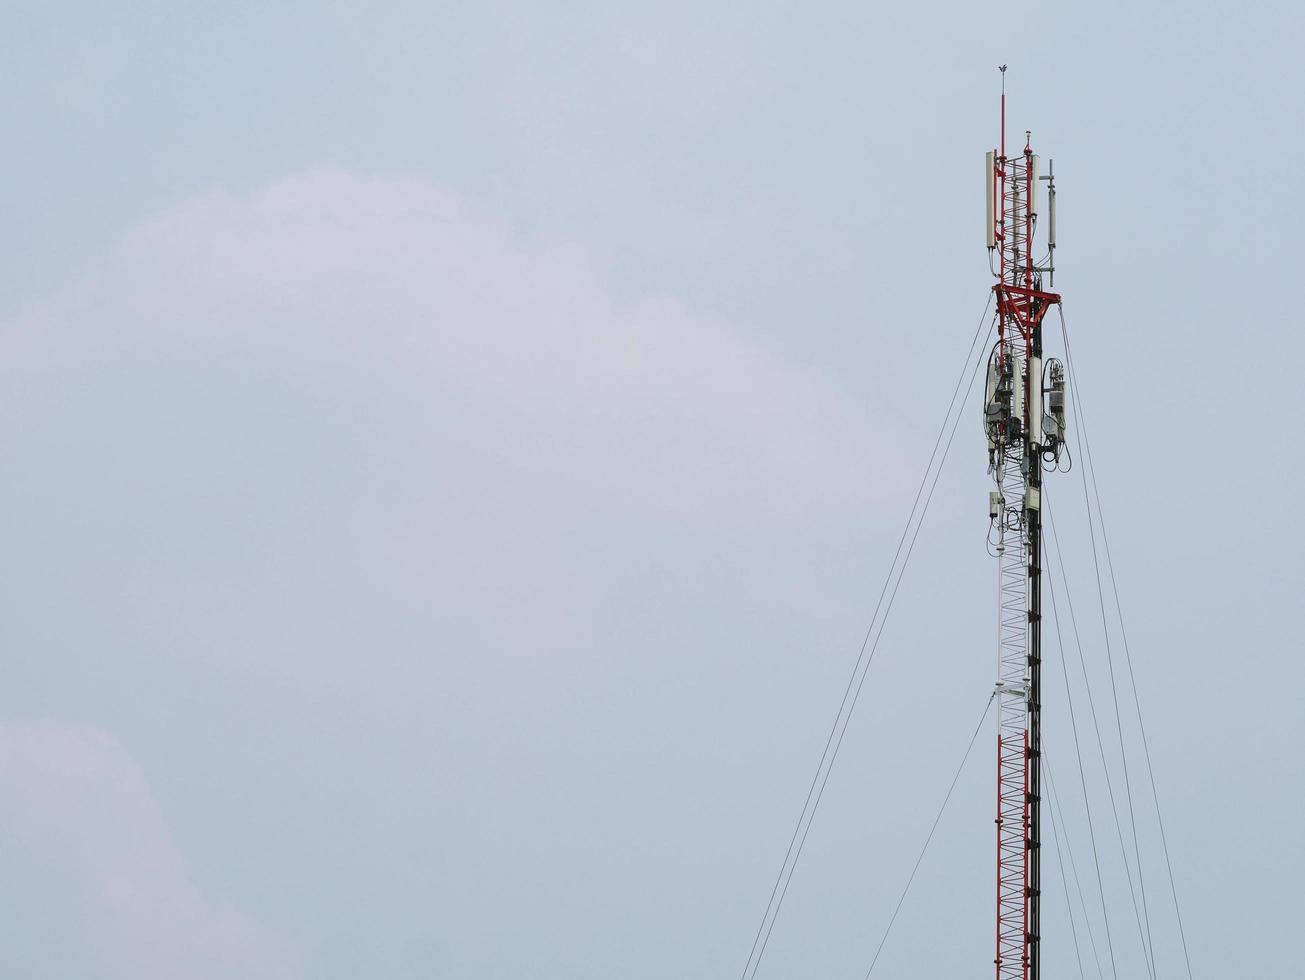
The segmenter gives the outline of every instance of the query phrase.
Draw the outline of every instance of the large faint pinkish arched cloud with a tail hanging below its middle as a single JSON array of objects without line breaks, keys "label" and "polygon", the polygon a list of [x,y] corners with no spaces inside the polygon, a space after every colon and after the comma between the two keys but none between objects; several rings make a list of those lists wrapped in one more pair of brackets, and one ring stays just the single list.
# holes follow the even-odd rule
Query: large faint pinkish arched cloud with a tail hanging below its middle
[{"label": "large faint pinkish arched cloud with a tail hanging below its middle", "polygon": [[418,389],[408,452],[435,475],[388,515],[394,551],[437,602],[499,622],[565,633],[591,577],[564,556],[577,528],[791,531],[899,491],[894,452],[813,372],[672,300],[619,303],[582,252],[523,244],[416,179],[204,196],[38,320],[251,351],[288,331]]}]

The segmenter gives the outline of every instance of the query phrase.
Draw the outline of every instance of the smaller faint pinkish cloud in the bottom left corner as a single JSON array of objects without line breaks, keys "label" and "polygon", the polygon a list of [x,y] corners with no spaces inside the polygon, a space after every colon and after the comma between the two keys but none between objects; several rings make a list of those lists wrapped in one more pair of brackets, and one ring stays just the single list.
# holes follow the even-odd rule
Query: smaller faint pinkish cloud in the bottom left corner
[{"label": "smaller faint pinkish cloud in the bottom left corner", "polygon": [[[0,724],[0,817],[10,847],[37,851],[87,896],[67,915],[72,945],[100,953],[107,976],[281,980],[290,960],[234,908],[187,876],[140,769],[95,728]],[[52,870],[52,869],[47,869]],[[76,908],[70,895],[65,910]],[[43,963],[57,963],[47,950]]]}]

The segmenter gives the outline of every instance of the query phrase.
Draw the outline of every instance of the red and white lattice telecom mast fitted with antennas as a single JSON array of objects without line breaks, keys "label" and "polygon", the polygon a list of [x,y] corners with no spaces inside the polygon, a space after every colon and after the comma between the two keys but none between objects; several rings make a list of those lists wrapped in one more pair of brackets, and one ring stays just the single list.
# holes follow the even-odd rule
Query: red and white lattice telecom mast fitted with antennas
[{"label": "red and white lattice telecom mast fitted with antennas", "polygon": [[[997,556],[997,980],[1040,980],[1041,894],[1041,483],[1057,468],[1065,435],[1065,372],[1043,361],[1041,322],[1060,296],[1052,283],[1056,185],[1026,133],[1006,154],[1006,67],[1001,142],[988,153],[989,264],[997,282],[997,342],[988,361],[984,428],[989,543]],[[1039,235],[1039,184],[1047,230]],[[1039,260],[1036,241],[1044,256]],[[1045,406],[1045,410],[1044,410]]]}]

